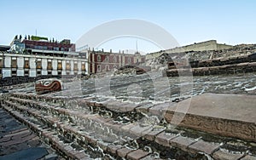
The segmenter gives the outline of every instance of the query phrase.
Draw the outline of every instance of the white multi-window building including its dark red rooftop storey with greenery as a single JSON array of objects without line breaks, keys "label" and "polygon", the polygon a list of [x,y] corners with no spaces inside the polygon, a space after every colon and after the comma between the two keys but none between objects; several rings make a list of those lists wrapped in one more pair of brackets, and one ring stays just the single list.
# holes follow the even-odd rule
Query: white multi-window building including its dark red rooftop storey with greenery
[{"label": "white multi-window building including its dark red rooftop storey with greenery", "polygon": [[69,40],[61,43],[15,39],[0,52],[0,77],[38,77],[88,74],[88,54],[75,52]]}]

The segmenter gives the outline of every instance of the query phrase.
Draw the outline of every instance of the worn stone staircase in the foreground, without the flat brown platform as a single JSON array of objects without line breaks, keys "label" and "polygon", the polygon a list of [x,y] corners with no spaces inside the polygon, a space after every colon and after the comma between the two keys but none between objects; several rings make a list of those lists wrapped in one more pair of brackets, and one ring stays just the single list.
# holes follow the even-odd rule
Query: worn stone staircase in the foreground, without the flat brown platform
[{"label": "worn stone staircase in the foreground, without the flat brown platform", "polygon": [[256,159],[255,142],[174,128],[165,104],[15,93],[1,106],[69,159]]}]

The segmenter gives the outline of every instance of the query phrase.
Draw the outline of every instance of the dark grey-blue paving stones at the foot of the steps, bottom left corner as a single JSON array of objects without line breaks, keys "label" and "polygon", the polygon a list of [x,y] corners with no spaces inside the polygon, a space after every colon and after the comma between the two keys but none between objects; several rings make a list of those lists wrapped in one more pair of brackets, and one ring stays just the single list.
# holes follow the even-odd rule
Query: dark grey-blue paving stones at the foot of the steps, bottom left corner
[{"label": "dark grey-blue paving stones at the foot of the steps, bottom left corner", "polygon": [[[0,159],[38,159],[54,153],[47,151],[36,134],[0,109]],[[13,127],[13,128],[9,128]],[[59,157],[56,155],[55,157]]]}]

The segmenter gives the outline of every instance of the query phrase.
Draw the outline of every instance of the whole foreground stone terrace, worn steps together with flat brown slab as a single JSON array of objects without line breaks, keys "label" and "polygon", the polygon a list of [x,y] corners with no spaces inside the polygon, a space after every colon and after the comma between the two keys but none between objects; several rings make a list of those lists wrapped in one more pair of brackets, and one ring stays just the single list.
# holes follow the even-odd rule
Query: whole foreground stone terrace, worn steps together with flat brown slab
[{"label": "whole foreground stone terrace, worn steps together with flat brown slab", "polygon": [[1,106],[63,157],[256,158],[254,95],[201,94],[161,104],[53,95],[4,94]]}]

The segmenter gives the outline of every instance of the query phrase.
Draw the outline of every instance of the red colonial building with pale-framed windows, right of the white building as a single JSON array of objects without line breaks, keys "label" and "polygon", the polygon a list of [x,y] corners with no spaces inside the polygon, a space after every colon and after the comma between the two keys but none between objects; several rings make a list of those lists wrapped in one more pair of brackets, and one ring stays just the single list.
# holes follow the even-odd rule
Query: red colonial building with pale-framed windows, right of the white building
[{"label": "red colonial building with pale-framed windows, right of the white building", "polygon": [[89,50],[90,73],[95,74],[104,71],[114,71],[121,66],[137,66],[145,62],[145,55],[138,52],[135,54],[113,53]]}]

